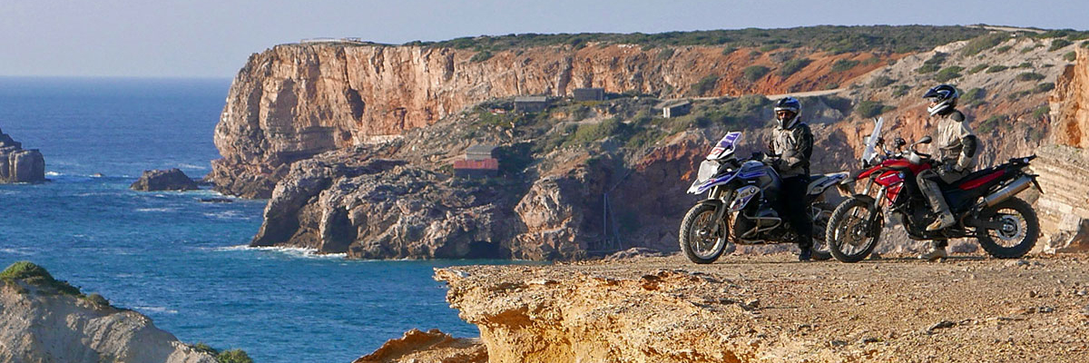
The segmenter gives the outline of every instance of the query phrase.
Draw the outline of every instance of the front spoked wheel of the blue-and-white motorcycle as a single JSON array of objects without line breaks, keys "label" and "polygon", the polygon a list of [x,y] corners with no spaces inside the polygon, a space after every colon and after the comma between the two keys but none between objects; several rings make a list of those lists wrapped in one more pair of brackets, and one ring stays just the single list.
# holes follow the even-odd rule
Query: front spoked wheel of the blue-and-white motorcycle
[{"label": "front spoked wheel of the blue-and-white motorcycle", "polygon": [[[688,214],[681,222],[681,251],[684,251],[685,256],[694,263],[713,263],[719,259],[729,243],[726,235],[730,233],[724,218],[713,220],[714,211],[713,205],[697,204],[688,209]],[[719,227],[718,232],[714,232],[715,223]]]}]

